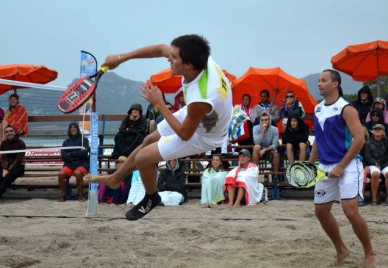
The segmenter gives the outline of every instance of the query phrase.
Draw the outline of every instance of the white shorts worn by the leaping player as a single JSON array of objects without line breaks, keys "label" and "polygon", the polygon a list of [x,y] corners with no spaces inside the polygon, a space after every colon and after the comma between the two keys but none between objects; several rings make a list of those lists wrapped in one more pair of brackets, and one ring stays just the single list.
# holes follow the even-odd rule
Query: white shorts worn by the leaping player
[{"label": "white shorts worn by the leaping player", "polygon": [[[186,115],[186,107],[174,113],[175,118],[181,123],[185,119]],[[213,150],[220,147],[228,138],[227,133],[224,137],[222,137],[205,136],[194,132],[193,136],[188,141],[183,141],[175,134],[174,130],[170,127],[166,120],[163,120],[158,124],[158,132],[161,136],[158,141],[158,149],[164,160],[187,157]]]}]

